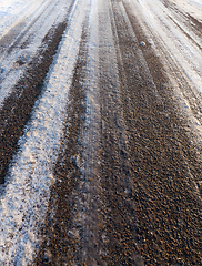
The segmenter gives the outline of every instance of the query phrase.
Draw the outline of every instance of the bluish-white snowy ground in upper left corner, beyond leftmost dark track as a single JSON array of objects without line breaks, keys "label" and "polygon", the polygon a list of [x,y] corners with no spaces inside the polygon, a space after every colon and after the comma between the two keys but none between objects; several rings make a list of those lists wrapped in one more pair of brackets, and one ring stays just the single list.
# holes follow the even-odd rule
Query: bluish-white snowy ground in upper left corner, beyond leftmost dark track
[{"label": "bluish-white snowy ground in upper left corner, beyond leftmost dark track", "polygon": [[[37,57],[38,50],[43,49],[40,45],[48,31],[63,22],[71,3],[72,1],[64,0],[2,1],[0,7],[0,105],[23,74],[31,59]],[[18,61],[23,63],[19,64]]]}]

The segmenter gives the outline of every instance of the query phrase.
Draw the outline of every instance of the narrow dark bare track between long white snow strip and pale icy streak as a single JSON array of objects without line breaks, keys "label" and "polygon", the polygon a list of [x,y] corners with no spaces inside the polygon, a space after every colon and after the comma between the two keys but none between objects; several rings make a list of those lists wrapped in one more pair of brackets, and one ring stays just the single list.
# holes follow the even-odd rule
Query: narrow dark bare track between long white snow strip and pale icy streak
[{"label": "narrow dark bare track between long white snow strip and pale icy streak", "polygon": [[[84,28],[84,27],[83,27]],[[42,243],[39,248],[37,265],[73,264],[78,254],[75,250],[75,232],[71,232],[70,216],[73,200],[72,191],[77,191],[81,180],[80,164],[82,161],[82,143],[80,134],[84,127],[85,91],[84,78],[87,66],[87,32],[83,30],[80,51],[73,74],[73,83],[69,92],[68,119],[64,137],[54,168],[55,185],[51,190],[49,211],[42,231]],[[71,232],[71,233],[69,233]]]}]

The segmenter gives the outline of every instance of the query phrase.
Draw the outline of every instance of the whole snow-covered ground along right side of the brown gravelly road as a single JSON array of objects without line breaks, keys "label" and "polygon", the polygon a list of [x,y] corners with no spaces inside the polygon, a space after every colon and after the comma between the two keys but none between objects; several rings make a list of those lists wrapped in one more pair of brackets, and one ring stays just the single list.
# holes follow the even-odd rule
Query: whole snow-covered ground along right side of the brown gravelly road
[{"label": "whole snow-covered ground along right side of the brown gravelly road", "polygon": [[[138,18],[166,75],[175,88],[179,112],[188,116],[201,153],[202,39],[201,1],[125,1]],[[199,19],[193,20],[189,16]],[[189,88],[189,89],[188,89]]]}]

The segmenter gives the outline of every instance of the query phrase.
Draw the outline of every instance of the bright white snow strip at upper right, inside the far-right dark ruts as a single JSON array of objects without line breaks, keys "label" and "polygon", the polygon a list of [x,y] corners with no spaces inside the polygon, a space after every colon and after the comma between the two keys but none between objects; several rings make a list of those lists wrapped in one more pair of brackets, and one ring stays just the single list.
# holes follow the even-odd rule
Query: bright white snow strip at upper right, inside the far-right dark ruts
[{"label": "bright white snow strip at upper right, inside the far-right dark ruts", "polygon": [[159,0],[142,0],[139,8],[158,40],[202,95],[202,50],[168,18],[172,13]]}]

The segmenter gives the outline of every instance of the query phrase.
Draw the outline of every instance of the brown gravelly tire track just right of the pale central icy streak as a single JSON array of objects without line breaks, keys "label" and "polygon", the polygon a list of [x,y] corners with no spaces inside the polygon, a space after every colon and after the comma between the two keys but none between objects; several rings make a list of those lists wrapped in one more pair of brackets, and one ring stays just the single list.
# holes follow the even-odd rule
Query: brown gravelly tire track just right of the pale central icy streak
[{"label": "brown gravelly tire track just right of the pale central icy streak", "polygon": [[120,82],[118,70],[118,60],[121,57],[117,43],[119,24],[114,21],[110,1],[105,1],[102,6],[99,21],[102,186],[105,205],[107,263],[108,265],[143,265],[137,238],[135,203],[130,197],[130,157],[121,92],[125,83]]}]

